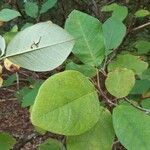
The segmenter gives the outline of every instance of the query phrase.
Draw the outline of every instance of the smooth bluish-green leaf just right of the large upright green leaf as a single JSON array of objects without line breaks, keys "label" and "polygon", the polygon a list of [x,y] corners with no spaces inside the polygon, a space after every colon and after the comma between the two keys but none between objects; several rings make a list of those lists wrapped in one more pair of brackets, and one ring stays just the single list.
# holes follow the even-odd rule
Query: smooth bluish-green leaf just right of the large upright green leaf
[{"label": "smooth bluish-green leaf just right of the large upright green leaf", "polygon": [[105,40],[106,54],[109,54],[121,44],[126,34],[126,26],[115,18],[109,18],[103,23],[102,30]]}]

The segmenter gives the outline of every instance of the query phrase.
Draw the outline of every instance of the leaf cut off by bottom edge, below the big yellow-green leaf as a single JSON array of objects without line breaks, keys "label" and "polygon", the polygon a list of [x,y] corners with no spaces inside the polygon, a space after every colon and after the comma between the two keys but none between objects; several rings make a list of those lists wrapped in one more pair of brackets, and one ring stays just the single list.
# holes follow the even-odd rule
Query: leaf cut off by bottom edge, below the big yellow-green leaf
[{"label": "leaf cut off by bottom edge, below the big yellow-green leaf", "polygon": [[50,138],[41,144],[38,150],[65,150],[65,147],[59,141]]}]

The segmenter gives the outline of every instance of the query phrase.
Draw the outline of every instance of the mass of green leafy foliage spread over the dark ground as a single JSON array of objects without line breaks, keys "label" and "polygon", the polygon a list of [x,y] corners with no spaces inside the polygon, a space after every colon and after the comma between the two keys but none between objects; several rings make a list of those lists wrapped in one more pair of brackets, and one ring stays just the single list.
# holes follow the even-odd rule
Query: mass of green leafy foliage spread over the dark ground
[{"label": "mass of green leafy foliage spread over the dark ground", "polygon": [[[149,22],[139,24],[148,20],[149,11],[132,12],[117,3],[103,6],[103,15],[96,12],[96,17],[73,10],[63,29],[41,20],[57,0],[21,4],[21,11],[8,7],[0,11],[0,26],[10,26],[0,30],[0,60],[14,73],[2,79],[0,65],[0,86],[18,85],[22,70],[39,75],[34,82],[27,77],[28,85],[18,88],[15,97],[22,107],[30,107],[37,132],[64,135],[66,143],[48,139],[38,149],[111,150],[118,140],[128,150],[148,150],[150,41],[144,27]],[[139,29],[144,32],[136,33]],[[45,71],[43,81],[45,76],[40,75]],[[0,140],[10,141],[6,148],[0,141],[0,149],[15,144],[5,133]]]}]

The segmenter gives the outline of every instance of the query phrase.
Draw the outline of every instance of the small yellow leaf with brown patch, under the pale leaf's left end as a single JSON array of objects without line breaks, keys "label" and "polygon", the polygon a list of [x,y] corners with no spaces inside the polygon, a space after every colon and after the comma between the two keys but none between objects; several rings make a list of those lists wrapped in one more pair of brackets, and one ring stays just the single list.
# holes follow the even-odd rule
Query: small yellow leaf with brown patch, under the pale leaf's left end
[{"label": "small yellow leaf with brown patch, under the pale leaf's left end", "polygon": [[17,64],[12,63],[9,59],[4,60],[4,66],[10,72],[17,72],[20,69],[20,66]]}]

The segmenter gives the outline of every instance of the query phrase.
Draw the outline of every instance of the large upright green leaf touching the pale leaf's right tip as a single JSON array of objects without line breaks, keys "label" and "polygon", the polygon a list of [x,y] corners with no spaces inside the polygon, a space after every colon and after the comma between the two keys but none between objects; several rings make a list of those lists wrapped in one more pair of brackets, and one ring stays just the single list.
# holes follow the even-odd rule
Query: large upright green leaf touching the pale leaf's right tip
[{"label": "large upright green leaf touching the pale leaf's right tip", "polygon": [[74,10],[65,23],[65,29],[76,40],[74,55],[85,64],[99,66],[104,59],[102,25],[99,20]]}]

